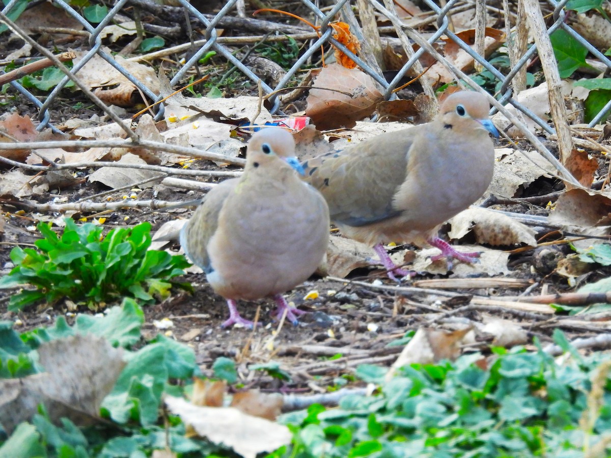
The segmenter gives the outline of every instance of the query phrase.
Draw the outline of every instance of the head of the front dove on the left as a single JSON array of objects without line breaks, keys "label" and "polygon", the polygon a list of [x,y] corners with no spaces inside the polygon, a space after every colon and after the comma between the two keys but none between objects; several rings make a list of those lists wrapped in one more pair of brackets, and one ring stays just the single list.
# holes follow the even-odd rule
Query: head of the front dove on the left
[{"label": "head of the front dove on the left", "polygon": [[268,164],[279,164],[279,161],[304,174],[295,157],[295,140],[290,132],[279,127],[268,127],[255,133],[248,144],[247,167],[266,167]]}]

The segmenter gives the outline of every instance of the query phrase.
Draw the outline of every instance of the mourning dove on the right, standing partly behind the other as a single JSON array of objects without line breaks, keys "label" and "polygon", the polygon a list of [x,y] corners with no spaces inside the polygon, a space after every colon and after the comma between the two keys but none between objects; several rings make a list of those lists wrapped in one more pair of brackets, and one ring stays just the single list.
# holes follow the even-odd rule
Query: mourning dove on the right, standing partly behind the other
[{"label": "mourning dove on the right, standing partly behind the other", "polygon": [[437,236],[439,226],[475,202],[492,180],[499,132],[486,96],[456,92],[431,123],[382,134],[304,162],[305,180],[324,196],[331,220],[352,239],[373,245],[395,280],[413,274],[390,260],[382,242],[424,242],[452,259],[474,262]]}]

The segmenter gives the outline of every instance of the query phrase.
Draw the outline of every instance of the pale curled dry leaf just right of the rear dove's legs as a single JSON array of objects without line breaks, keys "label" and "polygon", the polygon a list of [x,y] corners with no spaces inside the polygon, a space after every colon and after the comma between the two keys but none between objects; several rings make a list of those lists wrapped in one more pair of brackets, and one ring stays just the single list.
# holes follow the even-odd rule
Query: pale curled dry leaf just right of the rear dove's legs
[{"label": "pale curled dry leaf just right of the rear dove's legs", "polygon": [[458,240],[473,231],[475,240],[488,245],[526,244],[536,247],[536,231],[513,218],[486,208],[467,208],[450,219],[451,239]]}]

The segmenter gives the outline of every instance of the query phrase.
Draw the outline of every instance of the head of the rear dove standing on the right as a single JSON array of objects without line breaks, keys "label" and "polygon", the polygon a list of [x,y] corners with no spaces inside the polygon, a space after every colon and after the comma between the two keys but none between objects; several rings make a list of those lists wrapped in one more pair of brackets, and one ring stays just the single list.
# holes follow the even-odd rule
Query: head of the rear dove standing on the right
[{"label": "head of the rear dove standing on the right", "polygon": [[[486,129],[499,138],[499,131],[488,117],[488,98],[479,92],[461,91],[448,96],[441,104],[439,113],[445,125],[456,131]],[[474,124],[477,123],[477,124]]]}]

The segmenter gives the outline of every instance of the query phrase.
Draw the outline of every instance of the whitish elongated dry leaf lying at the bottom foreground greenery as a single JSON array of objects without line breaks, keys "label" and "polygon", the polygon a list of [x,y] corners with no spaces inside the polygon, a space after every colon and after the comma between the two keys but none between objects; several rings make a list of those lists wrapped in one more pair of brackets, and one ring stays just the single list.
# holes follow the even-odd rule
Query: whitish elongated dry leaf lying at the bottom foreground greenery
[{"label": "whitish elongated dry leaf lying at the bottom foreground greenery", "polygon": [[291,442],[286,426],[233,407],[198,407],[174,396],[166,396],[165,402],[170,412],[191,424],[200,437],[233,448],[244,458],[255,458]]}]

